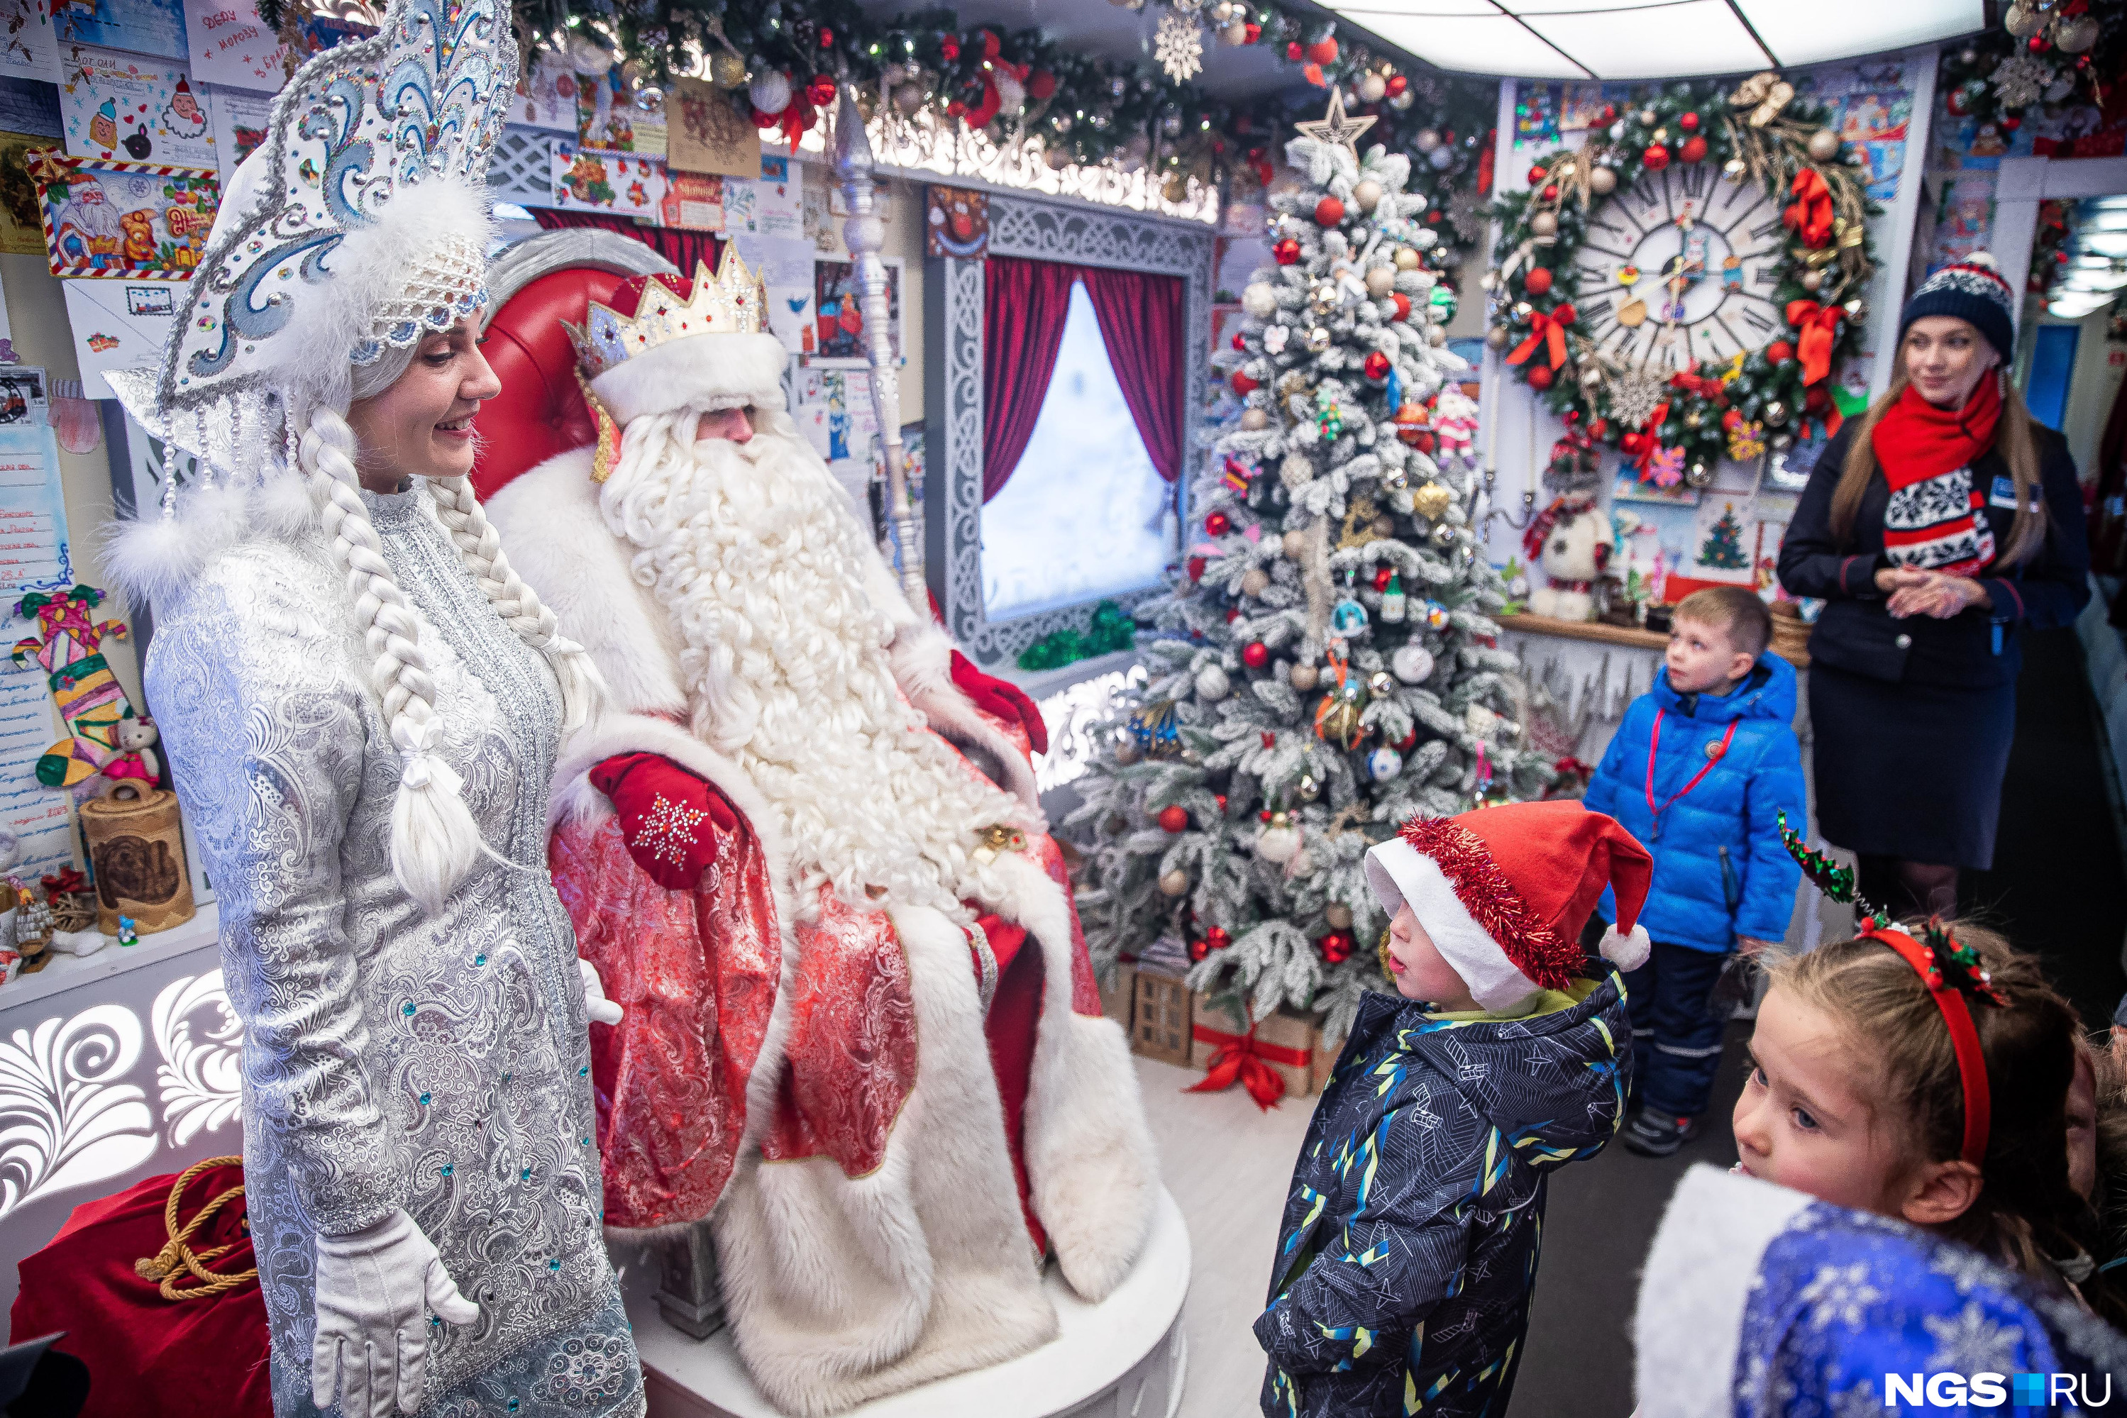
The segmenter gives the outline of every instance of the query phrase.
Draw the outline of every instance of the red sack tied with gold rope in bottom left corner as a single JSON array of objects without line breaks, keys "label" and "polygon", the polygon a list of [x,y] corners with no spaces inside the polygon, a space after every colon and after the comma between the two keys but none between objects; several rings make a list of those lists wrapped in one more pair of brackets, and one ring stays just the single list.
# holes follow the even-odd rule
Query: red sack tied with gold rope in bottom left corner
[{"label": "red sack tied with gold rope in bottom left corner", "polygon": [[[185,1176],[177,1231],[191,1225],[185,1250],[221,1280],[198,1280],[172,1248],[177,1176],[147,1178],[77,1205],[51,1244],[21,1261],[9,1339],[66,1331],[53,1348],[89,1367],[81,1418],[272,1414],[266,1301],[245,1220],[245,1169],[223,1157]],[[217,1197],[221,1203],[213,1205]],[[238,1280],[245,1271],[253,1273]],[[179,1299],[164,1299],[166,1290]]]}]

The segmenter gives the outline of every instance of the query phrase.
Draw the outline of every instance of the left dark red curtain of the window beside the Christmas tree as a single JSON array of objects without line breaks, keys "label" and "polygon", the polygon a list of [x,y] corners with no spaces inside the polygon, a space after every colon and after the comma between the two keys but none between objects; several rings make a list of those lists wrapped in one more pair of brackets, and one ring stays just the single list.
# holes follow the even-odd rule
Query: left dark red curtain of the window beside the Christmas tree
[{"label": "left dark red curtain of the window beside the Christmas tree", "polygon": [[983,261],[983,502],[1004,491],[1034,436],[1064,344],[1076,266]]}]

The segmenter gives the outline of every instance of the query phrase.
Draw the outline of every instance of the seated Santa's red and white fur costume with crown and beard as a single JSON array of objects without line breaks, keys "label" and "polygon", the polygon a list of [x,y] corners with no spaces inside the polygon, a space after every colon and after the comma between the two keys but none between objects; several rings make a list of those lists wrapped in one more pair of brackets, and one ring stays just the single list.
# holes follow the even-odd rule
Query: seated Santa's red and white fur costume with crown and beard
[{"label": "seated Santa's red and white fur costume with crown and beard", "polygon": [[[1053,1337],[1042,1246],[1108,1295],[1157,1167],[1025,753],[783,412],[757,278],[727,247],[610,300],[559,368],[617,457],[608,425],[491,493],[613,691],[551,840],[627,1010],[593,1037],[606,1220],[713,1218],[755,1382],[832,1412]],[[491,340],[551,338],[515,306]],[[698,442],[727,408],[751,442]]]}]

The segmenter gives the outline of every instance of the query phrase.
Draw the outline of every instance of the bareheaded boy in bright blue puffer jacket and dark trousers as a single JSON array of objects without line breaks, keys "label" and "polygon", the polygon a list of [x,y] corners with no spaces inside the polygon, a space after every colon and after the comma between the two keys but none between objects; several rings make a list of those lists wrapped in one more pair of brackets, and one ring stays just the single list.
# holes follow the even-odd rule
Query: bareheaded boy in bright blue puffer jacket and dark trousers
[{"label": "bareheaded boy in bright blue puffer jacket and dark trousers", "polygon": [[1625,976],[1638,1057],[1625,1146],[1644,1157],[1697,1137],[1721,1067],[1721,969],[1731,950],[1782,940],[1795,910],[1802,870],[1780,846],[1780,810],[1802,823],[1808,799],[1795,672],[1770,640],[1772,614],[1744,587],[1685,597],[1655,687],[1625,710],[1582,799],[1655,855],[1640,910],[1655,950]]}]

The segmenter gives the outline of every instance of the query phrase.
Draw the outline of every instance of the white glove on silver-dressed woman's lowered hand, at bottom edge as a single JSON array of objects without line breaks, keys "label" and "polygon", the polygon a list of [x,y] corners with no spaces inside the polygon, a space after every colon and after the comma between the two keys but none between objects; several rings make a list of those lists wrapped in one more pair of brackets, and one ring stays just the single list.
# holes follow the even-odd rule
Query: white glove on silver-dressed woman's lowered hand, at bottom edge
[{"label": "white glove on silver-dressed woman's lowered hand, at bottom edge", "polygon": [[325,1409],[338,1392],[340,1418],[387,1418],[393,1399],[402,1414],[421,1407],[428,1310],[451,1324],[481,1318],[406,1212],[317,1237],[311,1401]]}]

